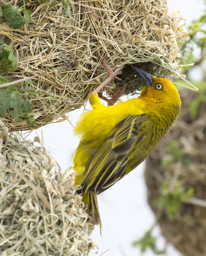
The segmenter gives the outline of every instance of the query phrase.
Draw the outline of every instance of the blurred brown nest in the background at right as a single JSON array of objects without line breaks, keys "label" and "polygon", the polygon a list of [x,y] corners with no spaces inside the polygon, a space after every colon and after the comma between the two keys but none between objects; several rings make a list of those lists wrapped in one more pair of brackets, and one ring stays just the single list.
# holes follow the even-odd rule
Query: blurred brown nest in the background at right
[{"label": "blurred brown nest in the background at right", "polygon": [[[180,117],[171,131],[154,148],[146,162],[145,179],[148,187],[148,202],[154,213],[154,198],[157,198],[163,180],[169,181],[169,188],[174,189],[177,182],[183,184],[184,189],[194,188],[194,198],[190,203],[183,203],[170,221],[163,211],[158,222],[162,235],[172,243],[184,256],[206,255],[206,91],[202,94],[183,92],[183,108]],[[197,118],[192,119],[190,108],[194,111],[198,101],[202,101],[197,108]],[[172,163],[167,168],[160,168],[168,143],[172,140],[180,142],[183,152],[181,160]],[[201,200],[199,200],[201,199]],[[196,204],[196,205],[195,205]],[[202,205],[202,206],[200,206]]]}]

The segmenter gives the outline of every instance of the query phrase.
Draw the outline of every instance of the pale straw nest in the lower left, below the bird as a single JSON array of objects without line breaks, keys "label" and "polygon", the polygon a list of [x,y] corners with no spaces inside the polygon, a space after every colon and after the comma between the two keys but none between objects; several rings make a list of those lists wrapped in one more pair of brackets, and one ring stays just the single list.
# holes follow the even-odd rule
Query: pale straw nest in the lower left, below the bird
[{"label": "pale straw nest in the lower left, below the bird", "polygon": [[0,255],[86,256],[93,224],[73,184],[42,145],[0,121]]}]

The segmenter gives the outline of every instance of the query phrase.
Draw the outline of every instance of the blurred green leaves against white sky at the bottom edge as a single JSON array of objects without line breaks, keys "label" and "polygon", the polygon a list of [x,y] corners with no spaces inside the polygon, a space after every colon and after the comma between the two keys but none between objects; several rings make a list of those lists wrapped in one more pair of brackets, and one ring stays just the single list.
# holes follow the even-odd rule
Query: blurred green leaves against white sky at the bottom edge
[{"label": "blurred green leaves against white sky at the bottom edge", "polygon": [[133,246],[140,247],[141,253],[145,253],[148,249],[151,249],[156,255],[165,253],[165,250],[157,249],[157,238],[151,235],[151,231],[148,230],[142,239],[134,241]]}]

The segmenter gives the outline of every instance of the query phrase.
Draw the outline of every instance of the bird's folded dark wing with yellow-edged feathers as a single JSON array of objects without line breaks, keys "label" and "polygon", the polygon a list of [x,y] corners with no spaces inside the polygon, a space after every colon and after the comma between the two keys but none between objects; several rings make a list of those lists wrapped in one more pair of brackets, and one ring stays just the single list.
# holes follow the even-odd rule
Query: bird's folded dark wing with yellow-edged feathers
[{"label": "bird's folded dark wing with yellow-edged feathers", "polygon": [[134,148],[139,147],[148,122],[148,116],[142,114],[126,116],[116,124],[91,161],[81,182],[82,192],[93,191],[99,194],[127,174],[126,164],[132,157]]}]

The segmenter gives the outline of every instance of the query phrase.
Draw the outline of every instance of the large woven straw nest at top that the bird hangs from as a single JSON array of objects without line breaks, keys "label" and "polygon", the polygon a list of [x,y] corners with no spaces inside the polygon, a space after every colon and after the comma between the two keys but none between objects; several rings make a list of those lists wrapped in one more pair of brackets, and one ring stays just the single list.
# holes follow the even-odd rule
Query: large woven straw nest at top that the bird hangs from
[{"label": "large woven straw nest at top that the bird hangs from", "polygon": [[[18,60],[17,70],[2,74],[9,81],[35,76],[36,84],[30,86],[42,93],[30,99],[35,127],[15,122],[11,110],[2,118],[12,131],[39,128],[79,108],[108,76],[103,58],[113,70],[136,64],[153,75],[177,76],[176,58],[186,33],[180,32],[182,19],[168,12],[166,0],[75,0],[68,17],[64,1],[13,2],[29,9],[32,20],[12,29],[1,18],[0,41],[12,47]],[[126,94],[141,87],[130,70],[123,71],[123,78],[130,80]],[[121,77],[106,93],[116,84],[122,85]],[[53,93],[55,99],[44,93]]]}]

